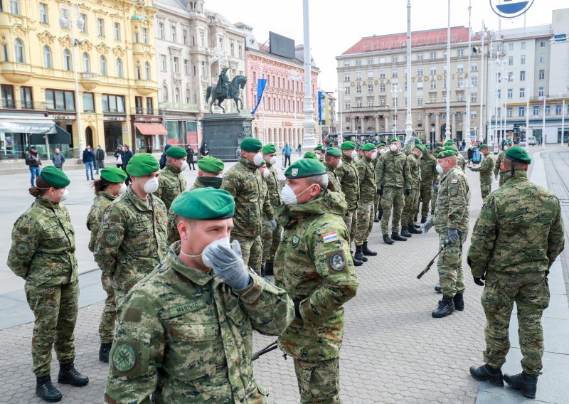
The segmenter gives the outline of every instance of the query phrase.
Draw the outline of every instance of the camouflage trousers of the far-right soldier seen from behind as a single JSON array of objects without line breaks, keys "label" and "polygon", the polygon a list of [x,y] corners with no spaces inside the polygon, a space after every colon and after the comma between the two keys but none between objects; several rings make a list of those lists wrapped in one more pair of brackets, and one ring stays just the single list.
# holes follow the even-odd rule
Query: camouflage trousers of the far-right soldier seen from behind
[{"label": "camouflage trousers of the far-right soldier seen from behind", "polygon": [[543,368],[541,315],[549,306],[549,286],[545,272],[486,272],[481,301],[486,314],[484,362],[496,368],[506,362],[510,349],[508,329],[511,311],[516,302],[519,343],[523,355],[521,368],[530,375],[540,375]]}]

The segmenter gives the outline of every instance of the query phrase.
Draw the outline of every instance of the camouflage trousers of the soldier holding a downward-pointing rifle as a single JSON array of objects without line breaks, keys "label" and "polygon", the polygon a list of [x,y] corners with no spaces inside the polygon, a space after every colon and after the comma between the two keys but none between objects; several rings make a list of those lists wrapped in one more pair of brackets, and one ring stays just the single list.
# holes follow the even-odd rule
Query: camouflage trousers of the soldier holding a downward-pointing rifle
[{"label": "camouflage trousers of the soldier holding a downward-pointing rifle", "polygon": [[[455,294],[464,293],[464,276],[462,273],[462,239],[447,245],[437,260],[437,270],[439,271],[440,286],[442,295],[453,297]],[[439,234],[439,249],[447,239],[447,229]]]}]

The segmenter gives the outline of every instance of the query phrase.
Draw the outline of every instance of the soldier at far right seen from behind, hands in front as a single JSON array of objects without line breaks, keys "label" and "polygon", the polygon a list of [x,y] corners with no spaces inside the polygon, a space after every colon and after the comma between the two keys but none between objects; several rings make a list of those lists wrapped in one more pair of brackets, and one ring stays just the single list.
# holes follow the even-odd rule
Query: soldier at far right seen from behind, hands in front
[{"label": "soldier at far right seen from behind, hands in front", "polygon": [[472,366],[470,373],[504,386],[501,366],[510,348],[509,322],[516,302],[522,373],[505,374],[504,381],[535,398],[543,368],[541,316],[550,297],[547,276],[563,251],[565,230],[558,198],[528,180],[528,164],[531,158],[523,148],[506,151],[504,185],[486,198],[472,230],[467,261],[474,283],[484,286],[486,364]]}]

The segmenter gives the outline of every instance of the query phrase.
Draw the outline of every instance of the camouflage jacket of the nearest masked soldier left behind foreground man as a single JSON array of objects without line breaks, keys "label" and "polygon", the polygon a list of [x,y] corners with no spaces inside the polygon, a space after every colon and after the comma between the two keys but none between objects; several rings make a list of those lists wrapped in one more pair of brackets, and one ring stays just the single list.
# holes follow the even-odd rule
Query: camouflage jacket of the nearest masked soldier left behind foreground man
[{"label": "camouflage jacket of the nearest masked soldier left behind foreground man", "polygon": [[115,289],[129,291],[166,257],[166,206],[150,194],[142,201],[132,187],[102,214],[95,261]]}]

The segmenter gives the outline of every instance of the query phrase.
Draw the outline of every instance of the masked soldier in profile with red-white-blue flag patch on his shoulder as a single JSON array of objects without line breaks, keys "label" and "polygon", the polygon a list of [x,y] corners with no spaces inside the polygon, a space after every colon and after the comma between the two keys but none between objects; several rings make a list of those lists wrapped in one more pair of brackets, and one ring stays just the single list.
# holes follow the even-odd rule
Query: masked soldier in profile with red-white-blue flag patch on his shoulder
[{"label": "masked soldier in profile with red-white-blue flag patch on his shoulder", "polygon": [[294,301],[296,318],[278,345],[294,358],[301,403],[340,403],[343,305],[359,283],[343,220],[346,204],[340,193],[326,190],[326,170],[317,160],[299,160],[285,176],[275,285]]}]

